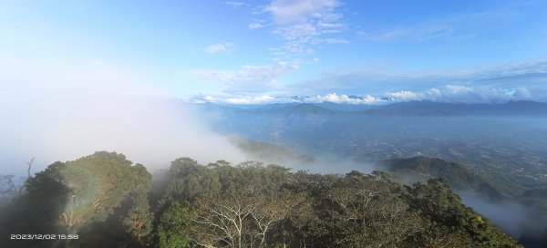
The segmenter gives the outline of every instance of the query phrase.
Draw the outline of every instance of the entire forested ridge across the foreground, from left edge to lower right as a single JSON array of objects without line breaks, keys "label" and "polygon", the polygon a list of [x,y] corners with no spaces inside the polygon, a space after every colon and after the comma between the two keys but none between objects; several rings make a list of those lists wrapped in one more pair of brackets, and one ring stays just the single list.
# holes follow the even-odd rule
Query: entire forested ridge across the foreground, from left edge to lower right
[{"label": "entire forested ridge across the foreground, from left edge to lower right", "polygon": [[408,187],[382,171],[180,158],[152,183],[143,165],[104,151],[36,173],[0,216],[2,247],[520,246],[444,179]]}]

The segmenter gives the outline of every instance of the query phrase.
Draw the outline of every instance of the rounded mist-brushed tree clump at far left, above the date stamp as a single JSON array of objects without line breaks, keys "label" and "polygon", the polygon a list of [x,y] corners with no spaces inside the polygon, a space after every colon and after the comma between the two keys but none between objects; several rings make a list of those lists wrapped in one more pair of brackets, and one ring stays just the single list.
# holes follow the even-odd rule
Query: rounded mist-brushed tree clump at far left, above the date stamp
[{"label": "rounded mist-brushed tree clump at far left, above the date stamp", "polygon": [[[144,166],[132,165],[114,152],[56,162],[27,180],[26,193],[2,210],[2,244],[115,247],[144,243],[152,228],[147,201],[150,183]],[[132,218],[135,213],[136,219]],[[119,216],[125,219],[120,221]],[[11,240],[10,234],[77,234],[78,239]]]}]

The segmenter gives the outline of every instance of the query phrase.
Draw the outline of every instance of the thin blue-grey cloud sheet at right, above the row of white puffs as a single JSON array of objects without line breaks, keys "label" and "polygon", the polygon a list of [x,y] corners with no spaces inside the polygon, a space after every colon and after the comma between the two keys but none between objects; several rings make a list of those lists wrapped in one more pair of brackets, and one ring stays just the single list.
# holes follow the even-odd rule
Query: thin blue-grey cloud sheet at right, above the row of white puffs
[{"label": "thin blue-grey cloud sheet at right, above the row of white puffs", "polygon": [[[545,88],[547,60],[526,60],[475,67],[395,71],[385,67],[370,67],[353,72],[325,73],[320,78],[296,82],[287,89],[304,95],[330,92],[381,94],[394,90],[414,91],[444,85],[481,88]],[[547,99],[543,99],[545,101]]]}]

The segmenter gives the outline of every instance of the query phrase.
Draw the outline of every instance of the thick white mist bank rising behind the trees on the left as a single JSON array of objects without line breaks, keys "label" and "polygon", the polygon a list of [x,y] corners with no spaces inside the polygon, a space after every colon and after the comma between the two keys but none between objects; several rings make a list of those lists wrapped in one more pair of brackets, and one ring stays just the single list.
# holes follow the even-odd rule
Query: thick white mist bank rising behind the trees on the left
[{"label": "thick white mist bank rising behind the trees on the left", "polygon": [[0,75],[0,173],[26,174],[56,160],[117,151],[149,169],[171,160],[246,160],[196,113],[135,71],[96,65]]}]

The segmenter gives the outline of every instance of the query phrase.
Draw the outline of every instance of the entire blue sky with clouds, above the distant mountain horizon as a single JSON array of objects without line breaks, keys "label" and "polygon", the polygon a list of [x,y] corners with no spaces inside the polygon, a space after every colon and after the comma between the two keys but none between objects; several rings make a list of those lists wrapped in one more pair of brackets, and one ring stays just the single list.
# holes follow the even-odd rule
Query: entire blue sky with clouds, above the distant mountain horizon
[{"label": "entire blue sky with clouds, above the distant mountain horizon", "polygon": [[228,103],[547,101],[545,1],[3,1],[0,9],[0,89],[12,100],[93,91]]}]

